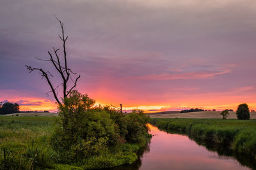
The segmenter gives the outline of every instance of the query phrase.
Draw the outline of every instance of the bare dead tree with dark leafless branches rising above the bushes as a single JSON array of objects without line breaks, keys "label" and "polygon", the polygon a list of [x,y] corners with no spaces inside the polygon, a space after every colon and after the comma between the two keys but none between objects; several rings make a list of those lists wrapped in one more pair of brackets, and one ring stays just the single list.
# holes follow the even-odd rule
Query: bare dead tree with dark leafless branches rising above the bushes
[{"label": "bare dead tree with dark leafless branches rising above the bushes", "polygon": [[[66,52],[66,41],[68,39],[68,36],[65,36],[64,34],[64,24],[63,22],[61,22],[61,20],[59,20],[57,17],[56,19],[58,20],[58,22],[60,22],[60,26],[61,26],[61,35],[59,35],[59,38],[61,39],[62,43],[63,43],[63,58],[64,58],[64,63],[65,64],[61,64],[61,58],[58,54],[58,50],[60,50],[59,48],[53,48],[54,54],[52,55],[51,52],[48,51],[49,54],[49,59],[38,59],[38,60],[42,60],[42,61],[49,61],[51,62],[51,64],[54,66],[54,69],[56,69],[59,73],[59,76],[61,76],[62,82],[60,85],[63,86],[63,98],[67,97],[68,94],[70,94],[70,92],[76,88],[77,85],[77,80],[81,77],[80,75],[76,77],[76,80],[73,81],[71,74],[77,74],[72,72],[72,70],[67,66],[67,52]],[[58,88],[60,87],[60,85],[54,87],[52,85],[52,81],[50,80],[50,77],[53,77],[53,75],[49,72],[49,71],[44,71],[44,69],[42,68],[38,68],[38,67],[31,67],[31,66],[27,66],[26,65],[26,69],[29,70],[29,73],[31,73],[32,71],[39,71],[39,73],[41,74],[42,78],[45,78],[47,80],[48,85],[51,87],[51,91],[47,92],[47,94],[51,93],[53,94],[54,98],[56,99],[57,103],[60,104],[60,106],[62,106],[61,101],[58,97]],[[74,84],[72,87],[70,87],[70,89],[68,89],[67,87],[67,83],[69,82],[69,80],[71,80]]]}]

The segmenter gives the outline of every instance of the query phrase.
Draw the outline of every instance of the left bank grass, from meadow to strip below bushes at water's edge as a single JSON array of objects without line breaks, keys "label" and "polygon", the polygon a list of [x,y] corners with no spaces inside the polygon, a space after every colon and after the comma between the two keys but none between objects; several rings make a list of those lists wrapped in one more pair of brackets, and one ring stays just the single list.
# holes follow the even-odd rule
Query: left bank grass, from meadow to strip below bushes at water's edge
[{"label": "left bank grass, from meadow to strip below bushes at water's edge", "polygon": [[83,164],[60,164],[50,143],[55,119],[1,116],[0,169],[95,169],[131,164],[138,159],[136,153],[141,145],[125,143],[113,152],[90,157]]}]

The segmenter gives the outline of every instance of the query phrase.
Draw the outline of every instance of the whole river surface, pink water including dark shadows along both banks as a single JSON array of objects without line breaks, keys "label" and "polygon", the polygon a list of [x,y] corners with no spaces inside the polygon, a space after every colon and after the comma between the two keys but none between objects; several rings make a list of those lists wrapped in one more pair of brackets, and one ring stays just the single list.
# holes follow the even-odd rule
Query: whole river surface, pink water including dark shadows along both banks
[{"label": "whole river surface, pink water including dark shadows along both banks", "polygon": [[256,169],[255,159],[235,153],[228,146],[194,141],[168,134],[150,125],[154,136],[134,164],[112,169]]}]

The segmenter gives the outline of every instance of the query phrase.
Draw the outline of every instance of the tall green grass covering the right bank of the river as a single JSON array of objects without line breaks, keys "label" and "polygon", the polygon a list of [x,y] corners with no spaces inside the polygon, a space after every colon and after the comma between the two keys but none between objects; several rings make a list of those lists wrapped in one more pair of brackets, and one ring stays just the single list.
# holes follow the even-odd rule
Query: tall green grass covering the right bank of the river
[{"label": "tall green grass covering the right bank of the river", "polygon": [[168,132],[227,143],[237,152],[256,156],[256,120],[151,118],[150,122]]}]

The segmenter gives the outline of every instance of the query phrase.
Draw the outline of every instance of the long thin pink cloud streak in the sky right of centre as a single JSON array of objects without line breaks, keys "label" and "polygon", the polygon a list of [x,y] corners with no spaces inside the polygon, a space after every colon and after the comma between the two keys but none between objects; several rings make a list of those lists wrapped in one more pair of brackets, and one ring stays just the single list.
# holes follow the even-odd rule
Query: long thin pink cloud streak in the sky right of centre
[{"label": "long thin pink cloud streak in the sky right of centre", "polygon": [[231,70],[224,71],[204,71],[204,72],[190,72],[190,73],[162,73],[149,74],[146,76],[134,77],[137,80],[182,80],[182,79],[205,79],[213,78],[221,74],[231,73]]}]

